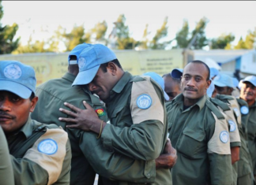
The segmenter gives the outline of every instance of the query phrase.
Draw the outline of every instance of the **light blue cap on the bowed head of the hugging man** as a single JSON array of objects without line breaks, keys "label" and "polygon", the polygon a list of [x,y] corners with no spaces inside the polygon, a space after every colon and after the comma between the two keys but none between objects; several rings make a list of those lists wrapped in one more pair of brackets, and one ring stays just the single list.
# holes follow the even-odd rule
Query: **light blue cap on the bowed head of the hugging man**
[{"label": "light blue cap on the bowed head of the hugging man", "polygon": [[102,44],[94,44],[83,50],[78,59],[79,73],[73,81],[74,85],[85,85],[92,82],[100,65],[113,61],[116,56],[112,50]]}]

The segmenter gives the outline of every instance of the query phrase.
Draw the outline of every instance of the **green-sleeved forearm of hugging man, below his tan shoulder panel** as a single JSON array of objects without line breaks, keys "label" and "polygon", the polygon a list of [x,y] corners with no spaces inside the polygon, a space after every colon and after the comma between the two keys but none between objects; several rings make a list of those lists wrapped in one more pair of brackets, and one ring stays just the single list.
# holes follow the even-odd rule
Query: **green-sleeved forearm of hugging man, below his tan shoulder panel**
[{"label": "green-sleeved forearm of hugging man, below his tan shoulder panel", "polygon": [[130,128],[107,124],[101,134],[101,141],[108,150],[149,161],[160,155],[164,142],[163,128],[163,124],[156,121],[133,124]]}]

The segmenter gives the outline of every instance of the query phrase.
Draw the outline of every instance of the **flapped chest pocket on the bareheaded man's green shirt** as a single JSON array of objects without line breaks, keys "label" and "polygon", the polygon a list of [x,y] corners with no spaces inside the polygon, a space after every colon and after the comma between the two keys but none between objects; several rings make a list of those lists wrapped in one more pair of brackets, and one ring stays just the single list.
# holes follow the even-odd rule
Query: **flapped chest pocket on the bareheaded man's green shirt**
[{"label": "flapped chest pocket on the bareheaded man's green shirt", "polygon": [[189,158],[201,158],[206,154],[207,144],[205,143],[205,133],[185,128],[179,137],[177,150]]}]

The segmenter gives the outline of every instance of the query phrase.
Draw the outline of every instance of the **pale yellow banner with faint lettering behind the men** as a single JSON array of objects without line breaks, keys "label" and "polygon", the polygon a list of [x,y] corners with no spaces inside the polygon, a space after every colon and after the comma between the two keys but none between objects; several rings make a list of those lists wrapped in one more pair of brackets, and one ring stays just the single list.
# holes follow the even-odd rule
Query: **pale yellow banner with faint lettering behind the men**
[{"label": "pale yellow banner with faint lettering behind the men", "polygon": [[[115,50],[122,68],[133,75],[156,72],[160,76],[173,68],[183,68],[183,50]],[[3,54],[0,60],[21,61],[36,72],[37,85],[62,77],[68,68],[69,53],[62,54]]]}]

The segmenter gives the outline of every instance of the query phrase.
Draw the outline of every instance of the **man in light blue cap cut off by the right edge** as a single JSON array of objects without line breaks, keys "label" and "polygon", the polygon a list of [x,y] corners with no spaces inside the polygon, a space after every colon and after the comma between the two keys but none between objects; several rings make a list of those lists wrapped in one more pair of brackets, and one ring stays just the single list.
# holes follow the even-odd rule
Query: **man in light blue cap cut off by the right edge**
[{"label": "man in light blue cap cut off by the right edge", "polygon": [[248,114],[247,134],[248,147],[252,159],[253,173],[256,176],[256,76],[247,76],[242,80],[240,98],[247,102],[247,106],[241,107],[241,113]]}]

